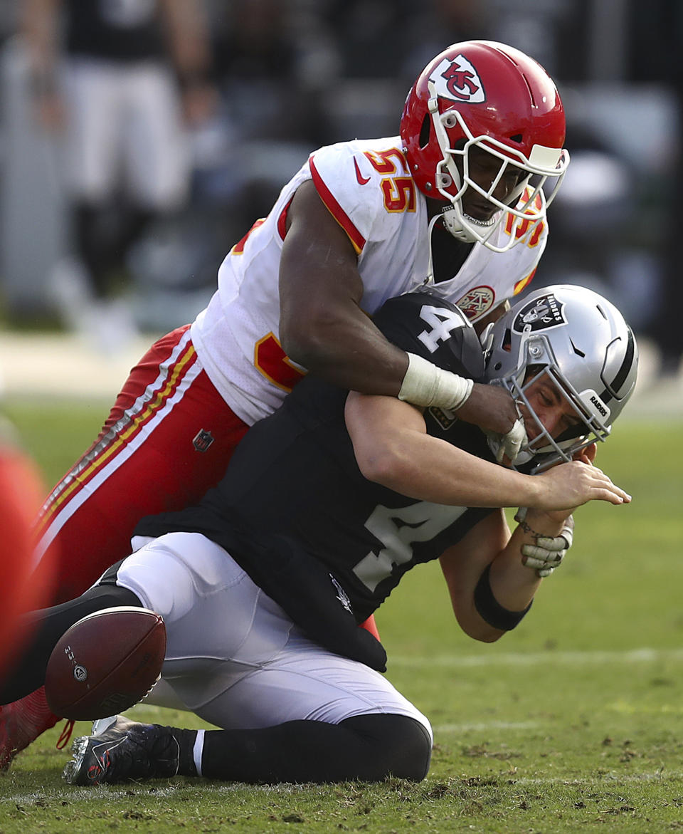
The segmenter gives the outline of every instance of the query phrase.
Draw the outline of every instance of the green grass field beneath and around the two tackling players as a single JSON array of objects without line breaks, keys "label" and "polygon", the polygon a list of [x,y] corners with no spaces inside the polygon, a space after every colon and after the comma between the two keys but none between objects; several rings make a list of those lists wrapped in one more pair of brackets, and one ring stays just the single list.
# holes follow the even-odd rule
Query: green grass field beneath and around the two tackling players
[{"label": "green grass field beneath and around the two tackling players", "polygon": [[[5,411],[47,483],[89,444],[104,407]],[[599,462],[633,503],[579,510],[565,564],[498,643],[458,632],[436,565],[413,571],[382,607],[388,675],[434,726],[421,784],[72,788],[56,728],[0,779],[0,832],[683,829],[681,430],[618,426]],[[202,726],[152,707],[132,715]]]}]

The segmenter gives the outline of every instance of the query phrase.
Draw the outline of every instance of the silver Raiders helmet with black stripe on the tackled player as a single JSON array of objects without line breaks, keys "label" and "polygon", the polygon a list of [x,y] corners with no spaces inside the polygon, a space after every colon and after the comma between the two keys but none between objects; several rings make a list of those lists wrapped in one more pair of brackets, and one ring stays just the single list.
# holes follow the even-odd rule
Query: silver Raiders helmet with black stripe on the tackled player
[{"label": "silver Raiders helmet with black stripe on the tackled player", "polygon": [[[526,295],[493,325],[485,348],[486,379],[505,386],[539,429],[515,465],[533,458],[536,470],[546,469],[606,440],[636,386],[638,348],[631,328],[614,304],[585,287],[556,285]],[[557,437],[526,397],[543,374],[579,418]]]}]

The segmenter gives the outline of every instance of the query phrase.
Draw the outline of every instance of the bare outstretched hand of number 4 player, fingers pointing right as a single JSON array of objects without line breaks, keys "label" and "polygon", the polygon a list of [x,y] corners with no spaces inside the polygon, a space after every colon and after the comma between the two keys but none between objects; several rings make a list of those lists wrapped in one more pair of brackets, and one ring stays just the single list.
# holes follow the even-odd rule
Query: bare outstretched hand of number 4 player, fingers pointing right
[{"label": "bare outstretched hand of number 4 player, fingers pointing right", "polygon": [[588,501],[607,501],[615,505],[631,501],[631,495],[613,484],[608,475],[583,460],[559,464],[533,477],[539,487],[533,504],[536,510],[571,512]]}]

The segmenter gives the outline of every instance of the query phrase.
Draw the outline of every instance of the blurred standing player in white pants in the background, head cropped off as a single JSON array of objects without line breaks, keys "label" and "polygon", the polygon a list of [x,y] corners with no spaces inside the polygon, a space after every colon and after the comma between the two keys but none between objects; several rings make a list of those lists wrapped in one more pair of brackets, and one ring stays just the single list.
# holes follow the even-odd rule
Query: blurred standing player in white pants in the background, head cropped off
[{"label": "blurred standing player in white pants in the background, head cropped off", "polygon": [[[127,259],[187,203],[187,129],[217,107],[212,43],[197,0],[22,0],[37,128],[60,147],[72,254],[45,290],[69,329],[117,355],[134,332],[117,287]],[[48,144],[47,147],[51,147]],[[56,150],[57,148],[55,148]]]}]

